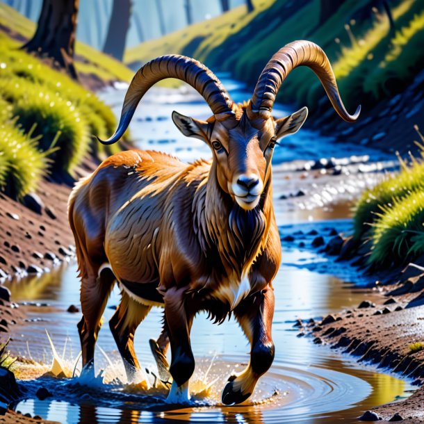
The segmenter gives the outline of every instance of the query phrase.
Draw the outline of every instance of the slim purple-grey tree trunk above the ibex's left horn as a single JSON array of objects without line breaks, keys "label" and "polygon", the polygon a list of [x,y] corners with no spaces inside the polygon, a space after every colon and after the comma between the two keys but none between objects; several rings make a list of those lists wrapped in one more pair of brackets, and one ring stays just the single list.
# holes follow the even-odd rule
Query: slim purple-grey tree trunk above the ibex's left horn
[{"label": "slim purple-grey tree trunk above the ibex's left horn", "polygon": [[124,57],[125,42],[131,17],[131,0],[113,0],[108,35],[104,42],[103,51],[117,60]]}]

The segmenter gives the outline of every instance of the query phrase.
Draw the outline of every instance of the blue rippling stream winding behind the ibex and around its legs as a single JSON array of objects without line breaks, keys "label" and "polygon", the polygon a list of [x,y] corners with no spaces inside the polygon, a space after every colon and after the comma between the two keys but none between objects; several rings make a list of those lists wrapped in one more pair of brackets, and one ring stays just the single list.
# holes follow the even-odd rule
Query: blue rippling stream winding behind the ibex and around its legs
[{"label": "blue rippling stream winding behind the ibex and around its legs", "polygon": [[[226,75],[220,75],[220,79],[235,101],[248,97],[243,85],[229,80]],[[122,90],[108,90],[101,96],[119,113],[123,93]],[[185,161],[209,157],[209,148],[204,143],[184,138],[175,129],[170,120],[174,109],[203,119],[209,114],[208,106],[190,90],[153,91],[143,99],[130,127],[137,147],[165,150]],[[284,110],[284,107],[277,106],[275,115],[282,115]],[[276,149],[275,164],[298,158],[347,158],[352,154],[366,154],[371,162],[393,159],[365,147],[319,137],[307,129],[286,140],[283,147]],[[165,404],[165,393],[152,394],[140,386],[127,384],[120,355],[107,325],[119,303],[120,293],[116,286],[108,301],[104,327],[97,341],[96,371],[102,373],[104,381],[99,377],[79,384],[78,377],[41,377],[50,369],[52,361],[47,333],[63,366],[72,370],[79,354],[76,323],[81,313],[67,312],[71,304],[79,307],[79,279],[76,263],[71,261],[41,277],[8,284],[13,300],[21,304],[28,316],[25,325],[17,325],[11,334],[10,348],[33,361],[23,373],[19,373],[20,383],[27,393],[26,400],[15,405],[15,409],[62,423],[318,424],[354,422],[354,417],[370,407],[409,396],[414,386],[407,380],[400,380],[374,366],[359,366],[347,355],[327,346],[315,345],[308,337],[300,337],[293,327],[297,318],[326,316],[343,308],[356,307],[364,299],[364,293],[371,301],[376,295],[375,291],[366,288],[369,281],[359,279],[354,270],[334,270],[334,262],[311,247],[313,236],[308,235],[311,230],[318,231],[327,240],[334,229],[337,232],[350,231],[350,206],[343,200],[325,210],[309,211],[307,215],[304,211],[284,209],[278,213],[280,236],[297,234],[297,237],[294,243],[282,243],[283,260],[274,280],[276,305],[272,334],[275,361],[245,404],[222,407],[220,391],[229,375],[239,372],[247,364],[247,340],[233,319],[219,326],[213,325],[204,313],[197,316],[192,329],[196,359],[192,381],[194,386],[197,382],[211,384],[206,395],[195,396],[190,407],[175,408]],[[311,263],[320,263],[320,266],[313,269]],[[161,309],[153,308],[135,337],[138,359],[150,376],[156,371],[148,340],[157,338],[161,318]],[[76,365],[76,375],[80,367],[81,361]],[[40,386],[48,389],[52,396],[44,400],[35,396]]]}]

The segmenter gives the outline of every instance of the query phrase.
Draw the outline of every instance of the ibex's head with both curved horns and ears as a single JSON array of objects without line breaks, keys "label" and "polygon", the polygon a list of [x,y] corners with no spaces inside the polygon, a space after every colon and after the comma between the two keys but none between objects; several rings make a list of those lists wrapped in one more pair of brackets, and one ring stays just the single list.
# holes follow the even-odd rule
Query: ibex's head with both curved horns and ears
[{"label": "ibex's head with both curved horns and ears", "polygon": [[343,106],[336,79],[324,51],[313,42],[295,41],[272,56],[259,76],[252,99],[236,105],[217,77],[202,63],[185,56],[162,56],[138,70],[131,81],[115,134],[104,144],[120,139],[138,102],[154,83],[177,78],[195,88],[211,107],[206,121],[177,112],[172,120],[188,137],[206,142],[213,152],[213,165],[220,188],[245,209],[254,209],[270,178],[270,162],[279,138],[295,133],[307,118],[307,108],[275,120],[272,106],[284,79],[295,67],[305,65],[320,79],[337,113],[353,122],[360,107],[350,115]]}]

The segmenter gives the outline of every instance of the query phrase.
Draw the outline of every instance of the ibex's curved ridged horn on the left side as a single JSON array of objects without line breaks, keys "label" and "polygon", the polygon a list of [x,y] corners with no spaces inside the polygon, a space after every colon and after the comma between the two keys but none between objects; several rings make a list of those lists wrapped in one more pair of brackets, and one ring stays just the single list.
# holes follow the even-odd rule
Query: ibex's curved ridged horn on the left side
[{"label": "ibex's curved ridged horn on the left side", "polygon": [[231,109],[233,101],[220,80],[205,65],[186,56],[161,56],[146,63],[136,72],[125,95],[115,134],[108,140],[97,137],[99,142],[104,145],[117,142],[127,130],[136,107],[147,90],[166,78],[180,79],[195,88],[209,104],[216,119],[224,120],[229,114],[234,115]]}]

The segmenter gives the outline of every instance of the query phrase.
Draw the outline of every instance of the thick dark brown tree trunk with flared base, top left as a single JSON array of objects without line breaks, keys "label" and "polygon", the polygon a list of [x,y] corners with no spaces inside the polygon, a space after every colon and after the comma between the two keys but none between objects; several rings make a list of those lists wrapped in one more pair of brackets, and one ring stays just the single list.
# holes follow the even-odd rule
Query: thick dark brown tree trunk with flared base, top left
[{"label": "thick dark brown tree trunk with flared base, top left", "polygon": [[37,29],[22,49],[54,60],[73,78],[74,44],[79,0],[43,0]]}]

